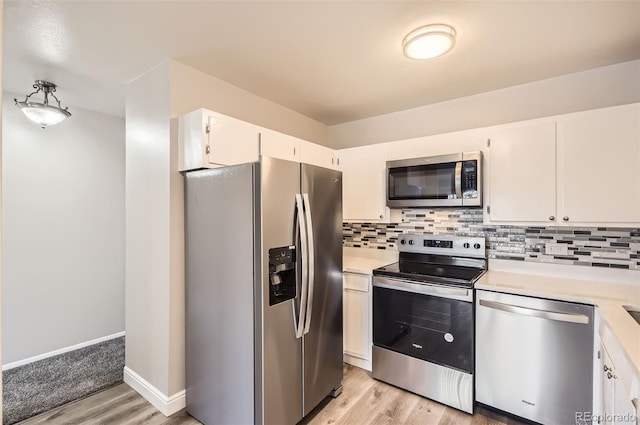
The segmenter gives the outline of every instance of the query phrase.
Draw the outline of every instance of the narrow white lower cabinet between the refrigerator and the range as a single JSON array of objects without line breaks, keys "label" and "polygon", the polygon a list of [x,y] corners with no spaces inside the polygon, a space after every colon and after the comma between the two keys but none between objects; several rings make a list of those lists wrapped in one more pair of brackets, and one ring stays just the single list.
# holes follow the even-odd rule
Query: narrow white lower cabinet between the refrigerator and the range
[{"label": "narrow white lower cabinet between the refrigerator and the range", "polygon": [[371,276],[344,273],[344,361],[371,371]]}]

